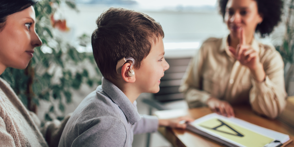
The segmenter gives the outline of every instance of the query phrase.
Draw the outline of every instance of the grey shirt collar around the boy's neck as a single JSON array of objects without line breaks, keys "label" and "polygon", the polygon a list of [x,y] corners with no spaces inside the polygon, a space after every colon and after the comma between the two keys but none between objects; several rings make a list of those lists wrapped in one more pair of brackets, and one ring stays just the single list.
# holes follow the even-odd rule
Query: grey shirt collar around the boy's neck
[{"label": "grey shirt collar around the boy's neck", "polygon": [[102,90],[112,99],[114,103],[123,111],[130,123],[136,123],[141,120],[136,107],[131,103],[128,97],[113,83],[102,77]]}]

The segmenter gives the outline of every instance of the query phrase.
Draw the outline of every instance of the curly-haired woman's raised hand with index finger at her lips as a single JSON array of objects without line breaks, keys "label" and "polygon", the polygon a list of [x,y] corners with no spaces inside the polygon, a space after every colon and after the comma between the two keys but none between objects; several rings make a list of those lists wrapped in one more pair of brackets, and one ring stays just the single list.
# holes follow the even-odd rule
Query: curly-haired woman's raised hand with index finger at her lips
[{"label": "curly-haired woman's raised hand with index finger at her lips", "polygon": [[255,51],[252,46],[246,44],[246,37],[243,28],[240,28],[239,34],[239,44],[236,49],[229,46],[230,52],[233,54],[235,59],[239,60],[241,64],[250,69],[255,80],[263,81],[265,79],[265,71],[263,69],[263,64],[260,63],[258,52]]}]

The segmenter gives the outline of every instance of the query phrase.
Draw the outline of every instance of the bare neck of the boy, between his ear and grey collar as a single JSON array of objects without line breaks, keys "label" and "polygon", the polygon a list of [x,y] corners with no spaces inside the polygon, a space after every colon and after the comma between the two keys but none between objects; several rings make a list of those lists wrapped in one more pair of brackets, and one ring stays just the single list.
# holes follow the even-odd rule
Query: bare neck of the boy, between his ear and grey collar
[{"label": "bare neck of the boy, between his ear and grey collar", "polygon": [[116,87],[118,87],[131,101],[131,103],[134,103],[138,96],[141,94],[141,92],[138,91],[137,88],[133,86],[132,83],[128,83],[125,81],[113,81],[111,80],[111,83],[113,83]]}]

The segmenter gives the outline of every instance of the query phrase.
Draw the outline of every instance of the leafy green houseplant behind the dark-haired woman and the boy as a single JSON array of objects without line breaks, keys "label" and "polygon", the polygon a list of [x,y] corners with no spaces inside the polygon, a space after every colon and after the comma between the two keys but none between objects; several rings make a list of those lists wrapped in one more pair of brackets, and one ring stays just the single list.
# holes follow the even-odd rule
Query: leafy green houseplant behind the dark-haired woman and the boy
[{"label": "leafy green houseplant behind the dark-haired woman and the boy", "polygon": [[[43,41],[43,45],[34,49],[34,57],[25,70],[7,68],[1,74],[1,78],[9,82],[30,111],[37,113],[40,100],[51,103],[44,116],[45,120],[52,120],[52,116],[57,115],[56,111],[62,112],[62,115],[56,116],[62,119],[65,115],[64,102],[71,103],[71,91],[79,89],[82,83],[87,83],[88,86],[93,86],[94,83],[101,84],[101,74],[93,54],[79,53],[75,46],[54,34],[57,30],[53,27],[56,27],[56,22],[59,23],[60,30],[67,29],[65,20],[53,19],[53,14],[61,3],[77,10],[76,4],[71,0],[41,0],[34,6],[37,20],[36,32]],[[90,40],[87,35],[79,38],[81,45],[87,44]],[[52,53],[44,53],[42,51],[44,47],[51,49]],[[87,64],[91,66],[91,69],[86,66],[75,69],[79,64]],[[90,72],[94,72],[95,76],[90,77]],[[58,108],[54,108],[56,101]]]}]

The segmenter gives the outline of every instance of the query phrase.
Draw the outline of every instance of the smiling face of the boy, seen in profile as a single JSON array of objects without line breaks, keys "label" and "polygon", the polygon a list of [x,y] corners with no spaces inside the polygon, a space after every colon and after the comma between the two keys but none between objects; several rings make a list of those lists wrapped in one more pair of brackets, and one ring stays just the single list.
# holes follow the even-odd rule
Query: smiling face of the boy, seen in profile
[{"label": "smiling face of the boy, seen in profile", "polygon": [[169,68],[163,57],[164,47],[162,37],[158,37],[156,42],[152,41],[151,51],[142,60],[140,69],[135,69],[136,85],[140,92],[157,93],[159,91],[160,79],[164,71]]}]

